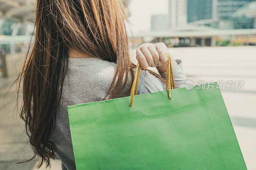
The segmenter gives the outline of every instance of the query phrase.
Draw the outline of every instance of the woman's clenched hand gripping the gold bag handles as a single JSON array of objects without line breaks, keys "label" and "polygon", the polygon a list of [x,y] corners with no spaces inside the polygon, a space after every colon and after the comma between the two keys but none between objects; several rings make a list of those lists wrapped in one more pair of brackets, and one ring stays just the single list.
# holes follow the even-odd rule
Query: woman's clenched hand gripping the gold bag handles
[{"label": "woman's clenched hand gripping the gold bag handles", "polygon": [[[136,50],[136,59],[140,61],[141,68],[156,67],[160,72],[166,72],[168,58],[165,53],[169,53],[167,46],[163,42],[156,44],[145,43]],[[177,67],[176,61],[171,56],[172,69]]]}]

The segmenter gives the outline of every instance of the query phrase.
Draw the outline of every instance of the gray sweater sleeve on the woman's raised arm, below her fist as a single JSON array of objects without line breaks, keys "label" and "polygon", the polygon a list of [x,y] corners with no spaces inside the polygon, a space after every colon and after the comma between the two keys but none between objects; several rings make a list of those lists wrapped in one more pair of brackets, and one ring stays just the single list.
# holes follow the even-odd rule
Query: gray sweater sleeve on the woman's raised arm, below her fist
[{"label": "gray sweater sleeve on the woman's raised arm, below her fist", "polygon": [[[181,60],[176,60],[178,66],[173,70],[174,81],[176,88],[185,87],[186,76],[182,69]],[[166,78],[166,73],[160,74],[163,78]],[[165,90],[165,84],[148,71],[140,71],[140,79],[137,94],[146,94],[152,92],[160,92]]]}]

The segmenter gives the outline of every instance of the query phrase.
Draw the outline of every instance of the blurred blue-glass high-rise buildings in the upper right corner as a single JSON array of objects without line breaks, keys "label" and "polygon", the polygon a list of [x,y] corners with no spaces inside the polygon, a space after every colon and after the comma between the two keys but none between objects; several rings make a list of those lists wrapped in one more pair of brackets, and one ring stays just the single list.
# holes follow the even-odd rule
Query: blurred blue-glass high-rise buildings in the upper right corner
[{"label": "blurred blue-glass high-rise buildings in the upper right corner", "polygon": [[254,3],[255,0],[187,0],[188,23],[219,29],[256,28],[255,16],[244,15]]}]

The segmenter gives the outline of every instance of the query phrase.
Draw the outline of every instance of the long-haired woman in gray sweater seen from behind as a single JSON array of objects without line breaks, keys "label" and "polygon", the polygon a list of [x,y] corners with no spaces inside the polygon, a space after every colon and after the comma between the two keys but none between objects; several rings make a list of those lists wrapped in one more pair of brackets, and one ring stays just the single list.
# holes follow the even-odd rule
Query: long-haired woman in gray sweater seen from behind
[{"label": "long-haired woman in gray sweater seen from behind", "polygon": [[[23,93],[20,116],[38,167],[50,166],[56,154],[63,169],[76,168],[67,106],[129,96],[135,65],[126,22],[121,0],[37,0],[35,42],[17,80]],[[164,43],[136,50],[144,69],[138,94],[165,90],[165,52]],[[178,88],[186,79],[180,62],[172,58]]]}]

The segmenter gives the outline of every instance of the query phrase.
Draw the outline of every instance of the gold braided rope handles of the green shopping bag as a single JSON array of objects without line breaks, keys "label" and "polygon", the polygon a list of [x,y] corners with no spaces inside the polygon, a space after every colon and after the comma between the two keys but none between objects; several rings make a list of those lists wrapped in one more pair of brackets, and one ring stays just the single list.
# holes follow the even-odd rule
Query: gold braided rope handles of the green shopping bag
[{"label": "gold braided rope handles of the green shopping bag", "polygon": [[[174,77],[172,72],[171,56],[168,53],[165,53],[165,55],[168,58],[167,69],[166,69],[166,90],[168,90],[169,99],[171,100],[171,89],[175,89],[175,82],[174,82]],[[140,62],[138,62],[136,66],[135,78],[132,83],[132,89],[130,94],[130,96],[132,96],[130,107],[132,107],[134,96],[137,95],[139,78],[140,78],[140,68],[141,68]]]}]

